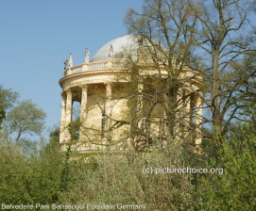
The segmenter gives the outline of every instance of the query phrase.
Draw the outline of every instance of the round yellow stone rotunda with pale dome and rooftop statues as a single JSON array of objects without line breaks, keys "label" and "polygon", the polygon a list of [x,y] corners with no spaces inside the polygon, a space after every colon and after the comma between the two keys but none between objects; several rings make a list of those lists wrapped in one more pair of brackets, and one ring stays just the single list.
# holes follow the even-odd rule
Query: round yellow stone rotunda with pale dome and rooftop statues
[{"label": "round yellow stone rotunda with pale dome and rooftop statues", "polygon": [[[150,91],[149,96],[153,96],[155,91],[153,86],[145,85],[145,76],[148,78],[148,74],[151,74],[150,80],[155,81],[154,75],[157,74],[152,67],[148,68],[152,59],[148,59],[147,62],[141,59],[142,55],[145,55],[145,50],[142,54],[142,45],[150,48],[154,44],[142,41],[137,35],[125,35],[103,45],[91,60],[89,50],[85,49],[82,64],[74,66],[71,54],[64,61],[65,71],[60,78],[62,151],[70,145],[80,153],[94,153],[106,146],[123,151],[131,146],[136,147],[135,142],[138,139],[144,144],[152,144],[152,139],[162,137],[166,127],[164,111],[161,106],[155,106],[148,113],[148,102],[151,100],[144,97]],[[137,66],[128,65],[131,64],[130,60],[137,66],[143,63],[140,70],[145,67],[147,72],[137,74],[134,79],[134,74],[131,76],[130,73],[135,73]],[[193,74],[193,71],[187,70],[181,77],[186,78]],[[203,87],[201,77],[196,76],[186,81],[189,86],[193,84],[194,90]],[[182,99],[184,94],[190,95],[189,100]],[[199,125],[202,112],[200,98],[184,88],[180,89],[177,99],[181,99],[182,104],[186,102],[185,110],[182,111],[186,113],[184,119]],[[73,120],[74,102],[80,104],[80,114],[76,120]],[[196,110],[196,118],[193,109]],[[78,136],[73,136],[74,131]],[[200,137],[196,137],[196,144],[200,143],[200,140]]]}]

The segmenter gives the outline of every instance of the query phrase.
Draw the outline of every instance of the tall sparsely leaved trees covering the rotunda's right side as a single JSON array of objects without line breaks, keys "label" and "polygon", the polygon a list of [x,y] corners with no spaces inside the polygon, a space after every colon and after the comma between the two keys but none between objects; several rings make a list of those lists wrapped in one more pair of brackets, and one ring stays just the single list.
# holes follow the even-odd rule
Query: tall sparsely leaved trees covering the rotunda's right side
[{"label": "tall sparsely leaved trees covering the rotunda's right side", "polygon": [[[151,65],[147,63],[147,67],[138,67],[135,62],[129,66],[159,72],[152,76],[164,82],[150,85],[158,93],[164,88],[167,97],[158,96],[167,102],[169,112],[179,112],[180,87],[200,97],[205,107],[201,118],[213,133],[209,136],[205,130],[201,132],[212,140],[222,141],[235,120],[249,121],[243,113],[255,103],[255,34],[250,7],[250,1],[145,0],[141,13],[131,8],[124,20],[130,33],[150,42],[145,52],[154,61]],[[180,78],[185,67],[196,73],[193,77],[203,77],[206,89],[199,92],[185,84]],[[164,71],[168,77],[162,77]]]}]

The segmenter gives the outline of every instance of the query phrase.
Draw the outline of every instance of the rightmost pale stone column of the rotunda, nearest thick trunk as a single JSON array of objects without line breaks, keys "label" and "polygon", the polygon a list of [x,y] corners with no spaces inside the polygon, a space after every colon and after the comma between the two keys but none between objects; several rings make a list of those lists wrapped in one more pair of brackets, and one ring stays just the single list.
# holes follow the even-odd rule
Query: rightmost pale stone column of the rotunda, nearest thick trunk
[{"label": "rightmost pale stone column of the rotunda, nearest thick trunk", "polygon": [[196,145],[200,144],[201,138],[201,123],[202,123],[202,99],[197,96],[196,98]]}]

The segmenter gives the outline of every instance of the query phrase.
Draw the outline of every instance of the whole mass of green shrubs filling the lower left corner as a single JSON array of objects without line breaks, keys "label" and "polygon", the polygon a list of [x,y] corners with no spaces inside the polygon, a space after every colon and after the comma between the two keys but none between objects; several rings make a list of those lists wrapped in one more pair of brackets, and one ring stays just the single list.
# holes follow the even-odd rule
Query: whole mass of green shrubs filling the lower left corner
[{"label": "whole mass of green shrubs filling the lower left corner", "polygon": [[[0,199],[2,203],[58,203],[72,176],[67,156],[60,154],[60,129],[30,156],[19,144],[0,141]],[[74,176],[74,175],[73,175]]]}]

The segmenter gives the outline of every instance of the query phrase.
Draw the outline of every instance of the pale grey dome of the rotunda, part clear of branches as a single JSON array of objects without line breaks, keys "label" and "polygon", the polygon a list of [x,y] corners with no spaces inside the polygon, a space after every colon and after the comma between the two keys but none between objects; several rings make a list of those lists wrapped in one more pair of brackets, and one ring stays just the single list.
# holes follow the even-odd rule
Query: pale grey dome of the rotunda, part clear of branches
[{"label": "pale grey dome of the rotunda, part clear of branches", "polygon": [[109,61],[113,56],[121,53],[124,49],[137,49],[138,41],[135,35],[124,35],[103,45],[94,55],[90,62]]}]

